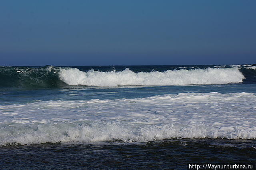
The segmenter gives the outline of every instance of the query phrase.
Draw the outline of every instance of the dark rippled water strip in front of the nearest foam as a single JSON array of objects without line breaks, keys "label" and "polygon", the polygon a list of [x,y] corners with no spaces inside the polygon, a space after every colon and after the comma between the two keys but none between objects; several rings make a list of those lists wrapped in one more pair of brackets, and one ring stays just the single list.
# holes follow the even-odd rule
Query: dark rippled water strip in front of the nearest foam
[{"label": "dark rippled water strip in front of the nearest foam", "polygon": [[0,148],[2,169],[186,169],[188,162],[255,161],[255,140],[46,143]]}]

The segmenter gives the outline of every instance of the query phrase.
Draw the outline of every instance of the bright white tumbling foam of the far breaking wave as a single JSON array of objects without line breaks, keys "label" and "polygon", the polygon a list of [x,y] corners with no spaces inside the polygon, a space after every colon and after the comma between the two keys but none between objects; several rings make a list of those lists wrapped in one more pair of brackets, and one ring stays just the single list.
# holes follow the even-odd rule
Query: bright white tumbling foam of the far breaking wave
[{"label": "bright white tumbling foam of the far breaking wave", "polygon": [[61,68],[59,77],[68,85],[99,87],[116,87],[118,85],[209,85],[239,83],[244,79],[238,67],[139,73],[134,73],[129,69],[118,72],[94,70],[84,72],[76,68]]}]

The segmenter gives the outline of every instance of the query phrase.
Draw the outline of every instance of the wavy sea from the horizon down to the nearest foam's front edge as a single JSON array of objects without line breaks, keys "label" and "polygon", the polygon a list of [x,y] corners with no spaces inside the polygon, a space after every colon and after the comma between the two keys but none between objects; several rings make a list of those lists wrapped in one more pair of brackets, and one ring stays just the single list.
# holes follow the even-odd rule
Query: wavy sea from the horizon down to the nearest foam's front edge
[{"label": "wavy sea from the horizon down to the nearest foam's front edge", "polygon": [[0,146],[256,138],[251,65],[0,67],[0,77]]}]

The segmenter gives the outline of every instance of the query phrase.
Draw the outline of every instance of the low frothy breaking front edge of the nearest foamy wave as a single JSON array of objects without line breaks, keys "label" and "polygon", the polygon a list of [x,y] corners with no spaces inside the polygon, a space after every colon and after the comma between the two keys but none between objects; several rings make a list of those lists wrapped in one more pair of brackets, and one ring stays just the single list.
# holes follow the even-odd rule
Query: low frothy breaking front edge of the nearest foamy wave
[{"label": "low frothy breaking front edge of the nearest foamy wave", "polygon": [[[10,127],[8,127],[10,128]],[[16,129],[17,131],[12,131]],[[0,146],[15,144],[70,143],[70,142],[148,142],[171,138],[228,138],[255,139],[255,130],[240,127],[209,127],[204,123],[192,126],[148,125],[141,128],[115,125],[114,123],[51,122],[40,125],[12,125],[1,132]]]}]

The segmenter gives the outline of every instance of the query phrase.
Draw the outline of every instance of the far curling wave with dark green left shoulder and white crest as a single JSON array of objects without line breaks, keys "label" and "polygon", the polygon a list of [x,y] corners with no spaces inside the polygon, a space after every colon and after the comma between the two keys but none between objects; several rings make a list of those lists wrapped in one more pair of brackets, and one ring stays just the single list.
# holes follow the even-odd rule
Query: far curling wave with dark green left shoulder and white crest
[{"label": "far curling wave with dark green left shoulder and white crest", "polygon": [[[143,67],[143,66],[142,66]],[[196,66],[195,66],[196,67]],[[74,85],[117,87],[122,85],[215,85],[256,82],[255,66],[240,65],[226,68],[185,68],[173,70],[137,71],[81,71],[71,67],[0,67],[0,87],[59,88]],[[229,67],[229,68],[228,68]],[[142,69],[143,70],[143,69]]]}]

